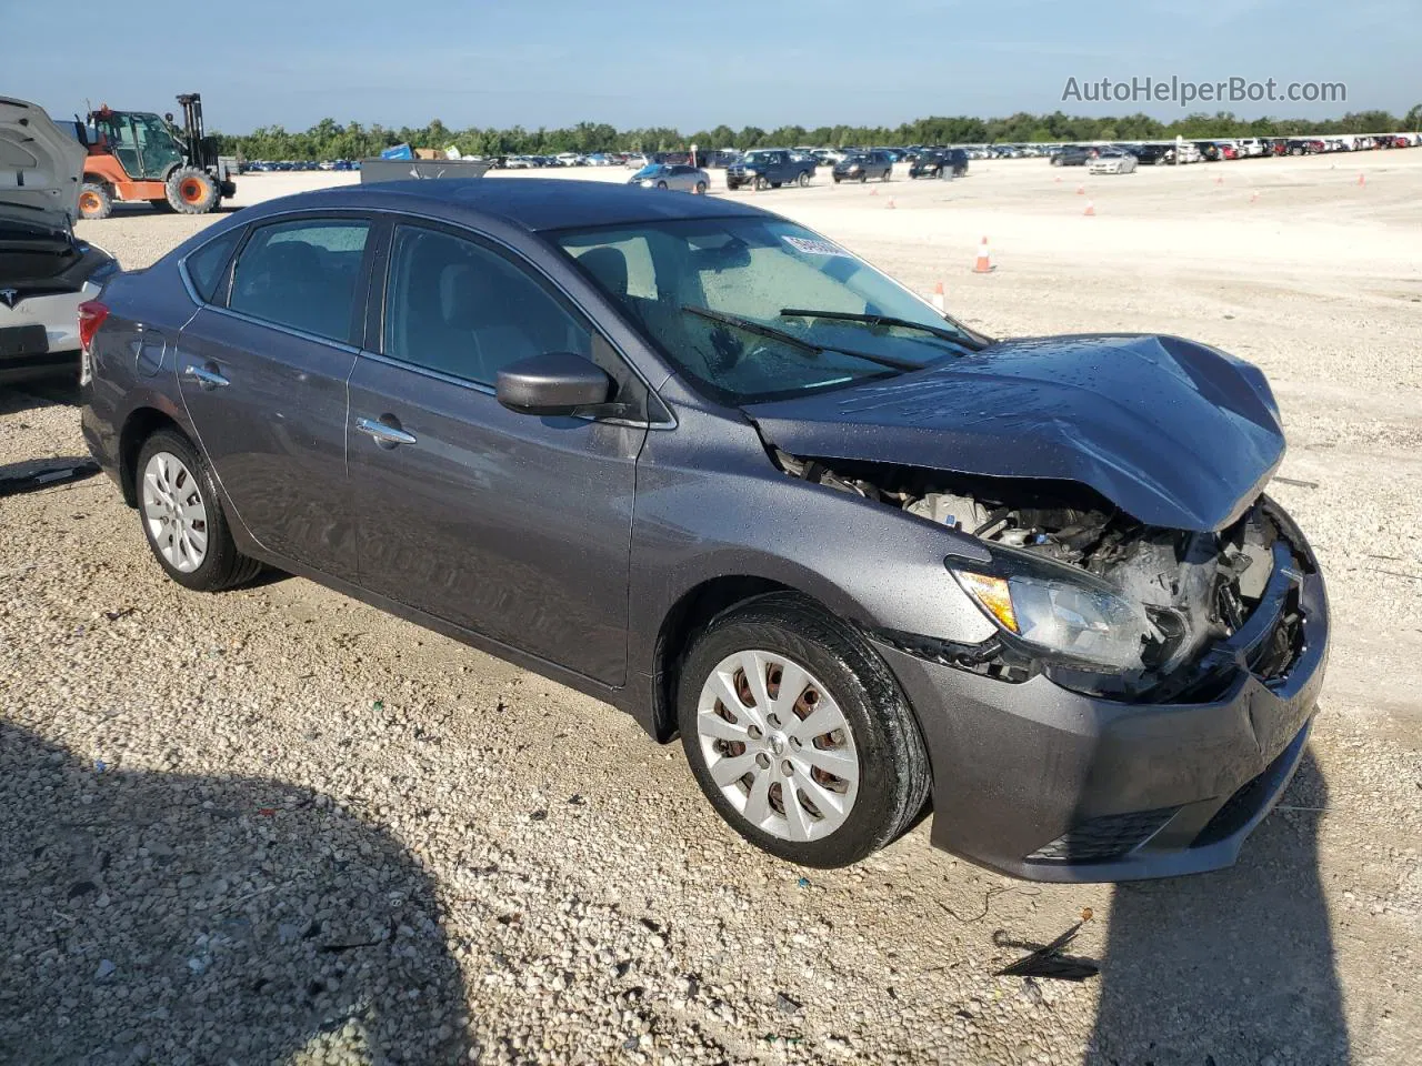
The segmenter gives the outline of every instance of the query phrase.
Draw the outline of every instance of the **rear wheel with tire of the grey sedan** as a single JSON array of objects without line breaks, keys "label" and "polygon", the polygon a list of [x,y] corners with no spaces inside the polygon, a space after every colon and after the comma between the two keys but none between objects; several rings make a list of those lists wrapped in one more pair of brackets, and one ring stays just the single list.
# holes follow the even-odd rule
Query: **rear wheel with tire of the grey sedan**
[{"label": "rear wheel with tire of the grey sedan", "polygon": [[232,539],[203,456],[175,429],[138,452],[138,515],[154,559],[173,581],[202,593],[246,584],[262,571]]}]

